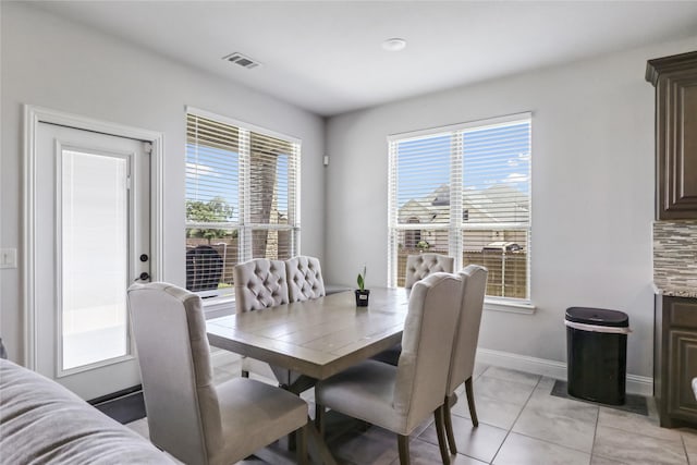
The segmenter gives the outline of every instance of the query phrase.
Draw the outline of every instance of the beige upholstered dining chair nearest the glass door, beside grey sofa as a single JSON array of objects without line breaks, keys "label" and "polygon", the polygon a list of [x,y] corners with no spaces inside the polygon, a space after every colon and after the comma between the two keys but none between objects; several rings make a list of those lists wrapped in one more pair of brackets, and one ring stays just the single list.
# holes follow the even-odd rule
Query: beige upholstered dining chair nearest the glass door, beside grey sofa
[{"label": "beige upholstered dining chair nearest the glass door, beside grey sofa", "polygon": [[186,464],[231,464],[297,431],[306,463],[307,404],[245,378],[212,382],[200,297],[168,283],[133,284],[135,334],[150,441]]}]

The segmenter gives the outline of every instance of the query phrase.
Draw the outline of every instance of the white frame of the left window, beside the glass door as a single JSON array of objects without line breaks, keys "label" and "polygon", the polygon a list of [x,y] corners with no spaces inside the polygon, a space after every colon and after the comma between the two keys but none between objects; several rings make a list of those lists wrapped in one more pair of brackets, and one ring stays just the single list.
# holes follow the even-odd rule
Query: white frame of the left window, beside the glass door
[{"label": "white frame of the left window, beside the glass door", "polygon": [[[258,230],[270,231],[285,231],[290,235],[290,256],[297,256],[301,254],[301,160],[302,160],[302,139],[288,134],[279,133],[268,130],[266,127],[257,126],[255,124],[246,123],[244,121],[235,120],[225,115],[213,113],[207,110],[201,110],[196,107],[185,107],[185,125],[188,123],[186,119],[188,115],[204,118],[218,123],[234,126],[239,131],[240,147],[237,152],[237,220],[227,221],[222,223],[206,223],[188,221],[184,218],[184,231],[197,225],[206,225],[208,228],[223,229],[229,231],[237,231],[237,264],[248,261],[253,259],[253,234]],[[288,160],[288,224],[267,224],[267,223],[253,223],[250,220],[249,211],[252,206],[250,195],[250,134],[256,133],[262,136],[268,136],[277,139],[281,139],[292,145],[293,150],[289,154]],[[184,152],[185,163],[188,163],[188,142],[185,137]],[[186,179],[186,173],[185,173]],[[278,185],[278,180],[276,181]],[[184,187],[185,201],[188,199],[186,186]],[[222,310],[222,305],[227,306],[230,303],[234,303],[234,286],[219,287],[217,290],[208,291],[195,291],[196,294],[205,298],[204,303],[207,307],[215,307],[217,310]]]}]

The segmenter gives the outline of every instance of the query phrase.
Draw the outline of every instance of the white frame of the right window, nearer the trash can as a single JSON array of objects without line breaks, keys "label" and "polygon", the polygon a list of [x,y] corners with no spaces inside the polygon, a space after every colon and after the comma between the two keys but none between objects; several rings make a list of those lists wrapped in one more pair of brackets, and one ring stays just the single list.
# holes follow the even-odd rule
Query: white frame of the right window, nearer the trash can
[{"label": "white frame of the right window, nearer the trash can", "polygon": [[[473,130],[492,129],[497,126],[508,126],[515,123],[528,123],[529,127],[529,154],[530,164],[528,167],[528,219],[524,223],[477,223],[468,224],[463,218],[463,159],[466,157],[463,148],[464,134]],[[400,223],[400,206],[398,200],[398,156],[399,144],[426,139],[429,137],[450,136],[450,218],[448,223]],[[425,230],[447,230],[448,231],[448,255],[454,257],[455,269],[461,269],[463,264],[463,240],[465,231],[476,230],[523,230],[527,234],[526,250],[526,297],[502,297],[494,295],[486,296],[486,307],[503,311],[531,314],[535,306],[531,303],[531,233],[533,233],[533,176],[531,176],[531,156],[533,156],[533,113],[522,112],[504,117],[491,118],[486,120],[470,121],[466,123],[452,124],[447,126],[413,131],[407,133],[399,133],[389,135],[388,142],[388,286],[396,286],[398,283],[398,262],[399,262],[399,235],[418,229]]]}]

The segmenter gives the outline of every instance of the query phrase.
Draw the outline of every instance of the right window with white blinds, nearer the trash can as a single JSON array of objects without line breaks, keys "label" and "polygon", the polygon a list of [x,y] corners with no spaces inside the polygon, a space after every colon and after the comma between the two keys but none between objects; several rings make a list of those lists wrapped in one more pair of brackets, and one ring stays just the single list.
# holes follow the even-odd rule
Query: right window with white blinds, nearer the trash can
[{"label": "right window with white blinds, nearer the trash can", "polygon": [[423,252],[489,269],[487,296],[529,301],[530,114],[389,137],[389,285]]}]

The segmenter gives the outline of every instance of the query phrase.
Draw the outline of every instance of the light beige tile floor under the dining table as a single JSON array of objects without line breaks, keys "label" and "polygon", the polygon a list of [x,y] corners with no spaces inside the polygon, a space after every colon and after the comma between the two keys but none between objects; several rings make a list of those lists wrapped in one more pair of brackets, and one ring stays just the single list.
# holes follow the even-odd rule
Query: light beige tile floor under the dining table
[{"label": "light beige tile floor under the dining table", "polygon": [[[236,355],[223,351],[215,351],[212,355],[216,382],[240,375]],[[273,383],[270,379],[258,379]],[[474,392],[479,427],[472,426],[461,387],[460,401],[452,409],[458,451],[452,463],[697,465],[697,430],[660,428],[651,400],[647,417],[552,396],[553,383],[551,378],[478,365]],[[313,391],[303,397],[314,415]],[[129,426],[148,436],[145,419]],[[327,443],[340,464],[399,464],[396,438],[387,430],[365,429],[355,421],[331,416],[327,430]],[[432,418],[412,435],[409,446],[415,465],[441,462]]]}]

